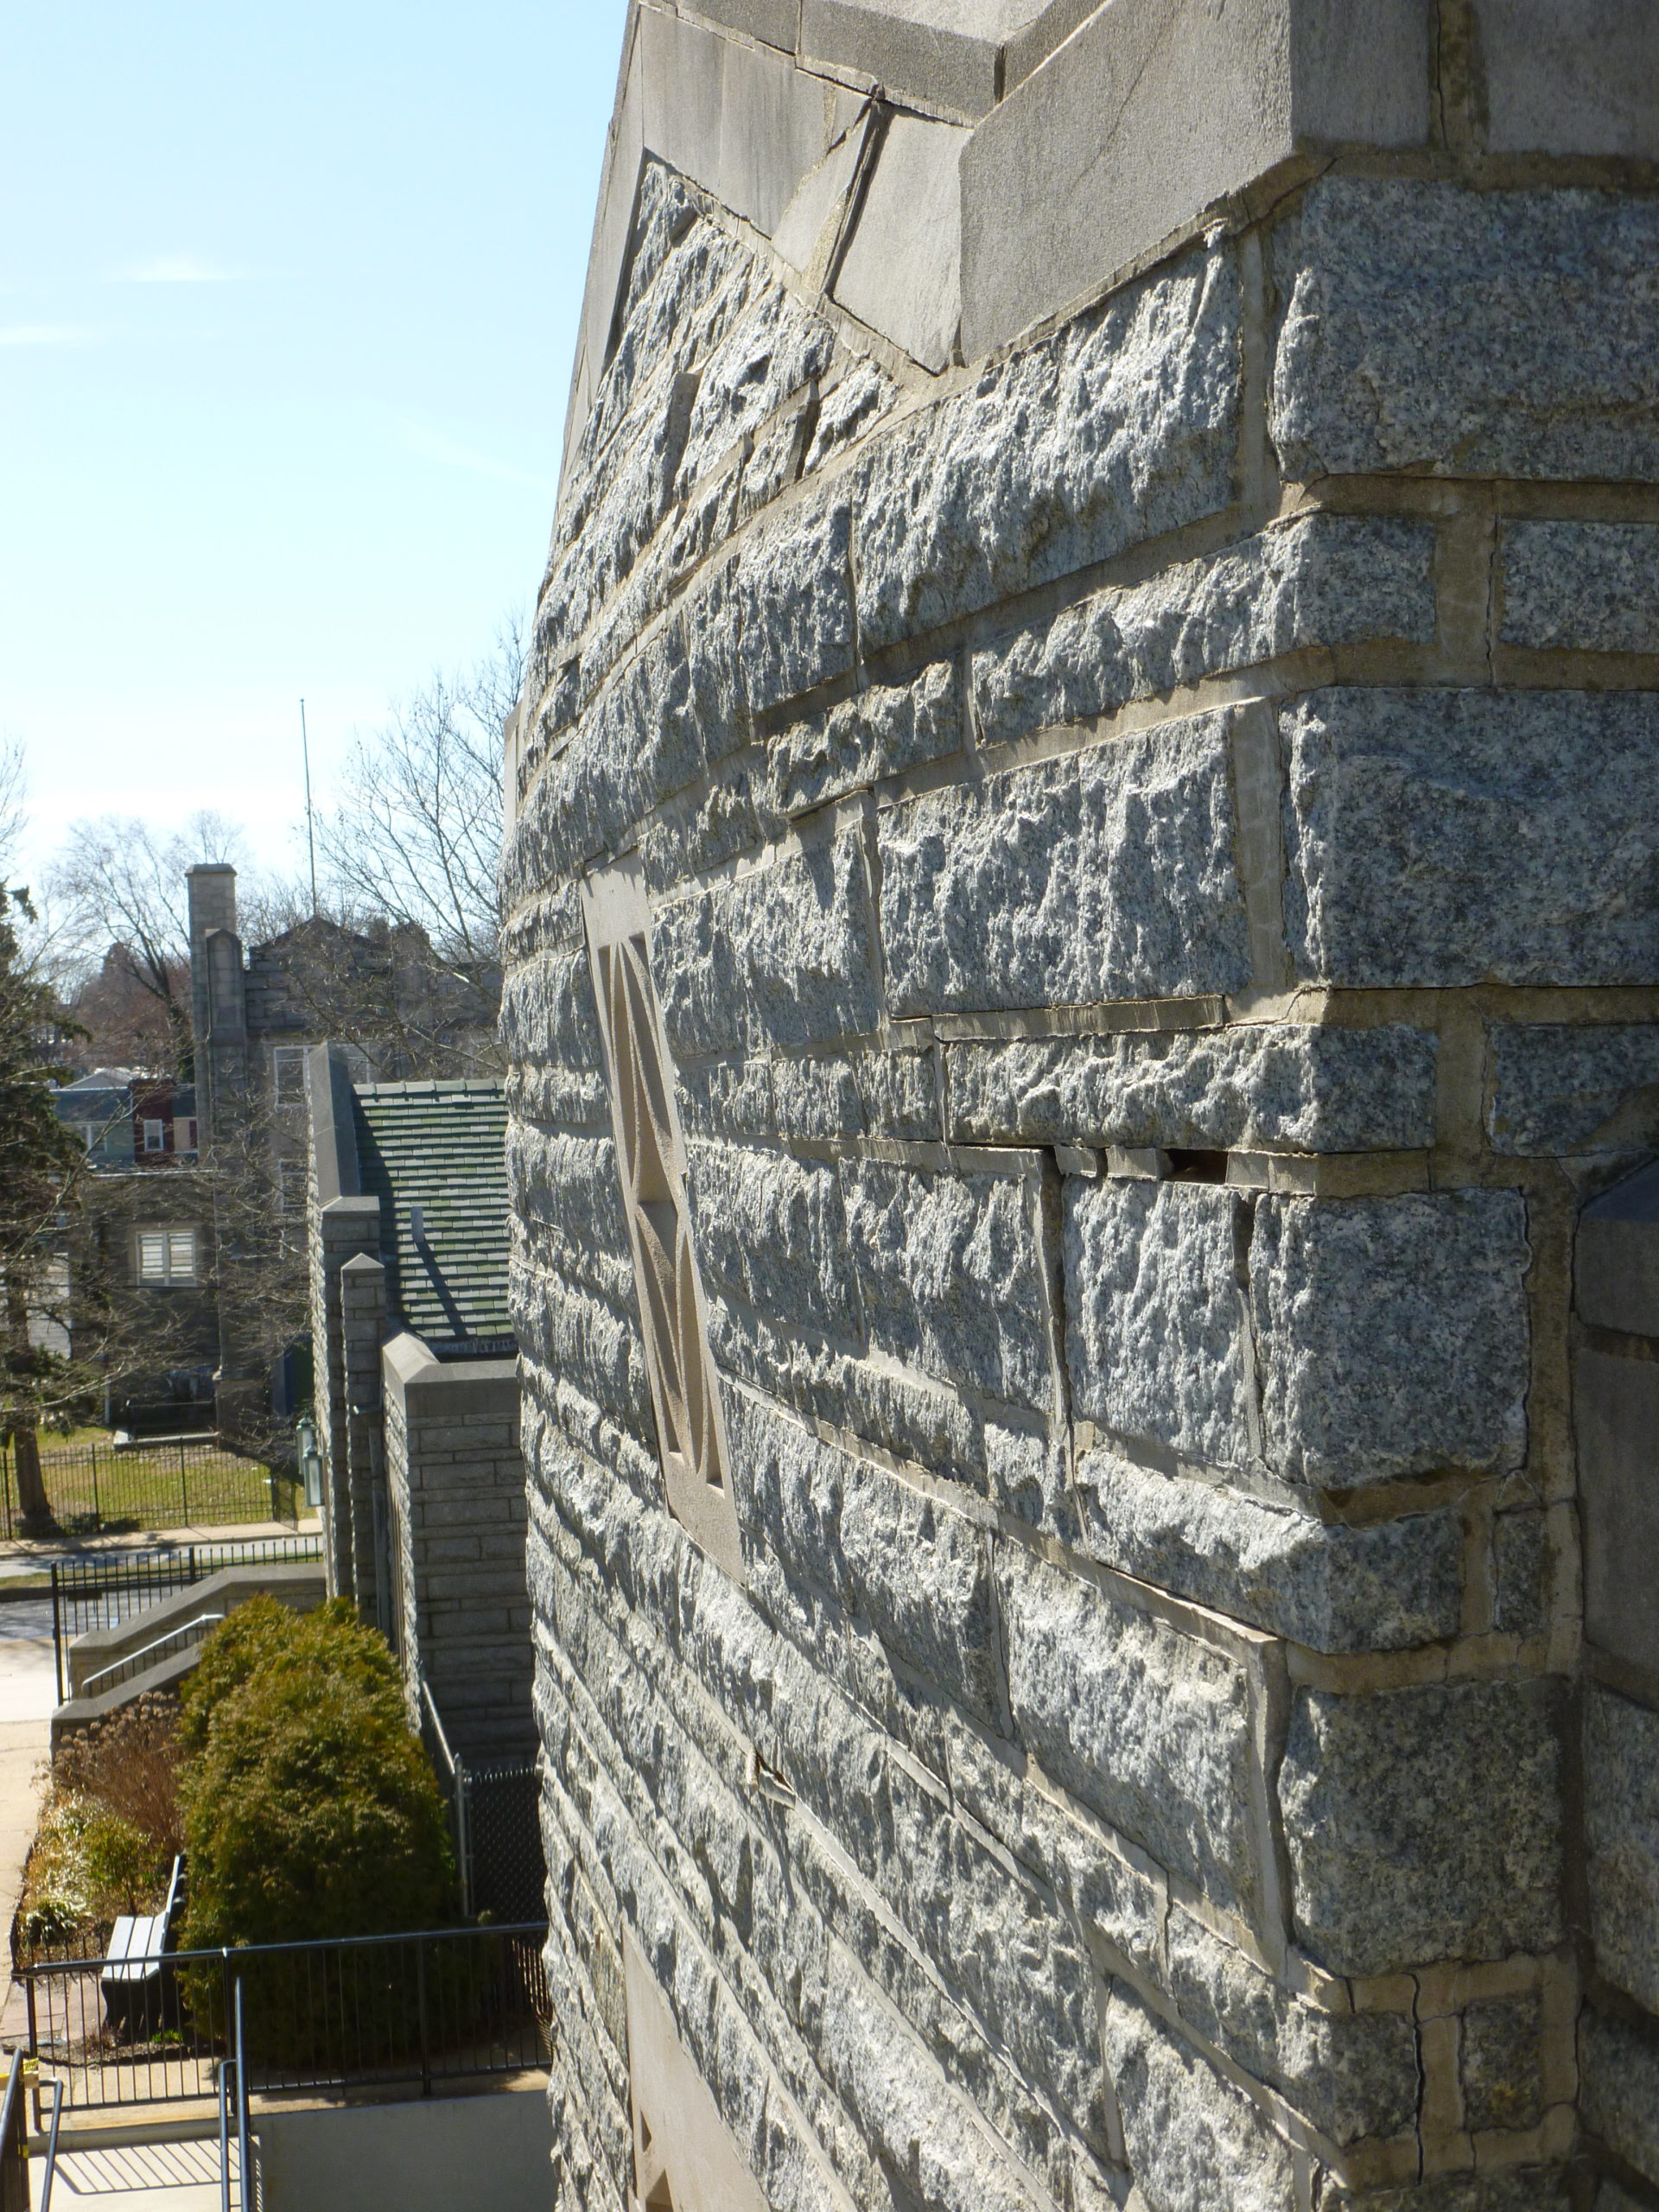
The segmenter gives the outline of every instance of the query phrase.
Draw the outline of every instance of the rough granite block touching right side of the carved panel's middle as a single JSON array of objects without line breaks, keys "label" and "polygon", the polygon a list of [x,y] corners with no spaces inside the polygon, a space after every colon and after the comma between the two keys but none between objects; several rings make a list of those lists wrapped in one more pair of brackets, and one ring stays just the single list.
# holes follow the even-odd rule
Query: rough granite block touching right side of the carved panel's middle
[{"label": "rough granite block touching right side of the carved panel's middle", "polygon": [[692,1141],[686,1181],[697,1259],[774,1325],[858,1334],[836,1170],[752,1146]]}]

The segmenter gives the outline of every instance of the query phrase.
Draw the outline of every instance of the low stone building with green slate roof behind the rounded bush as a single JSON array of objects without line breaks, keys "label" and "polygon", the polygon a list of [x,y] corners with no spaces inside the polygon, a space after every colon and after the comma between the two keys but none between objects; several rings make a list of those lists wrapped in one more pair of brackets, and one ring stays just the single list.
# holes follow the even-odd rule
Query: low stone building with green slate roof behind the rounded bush
[{"label": "low stone building with green slate roof behind the rounded bush", "polygon": [[524,1462],[500,1084],[307,1057],[310,1298],[330,1595],[354,1597],[469,1765],[526,1761]]}]

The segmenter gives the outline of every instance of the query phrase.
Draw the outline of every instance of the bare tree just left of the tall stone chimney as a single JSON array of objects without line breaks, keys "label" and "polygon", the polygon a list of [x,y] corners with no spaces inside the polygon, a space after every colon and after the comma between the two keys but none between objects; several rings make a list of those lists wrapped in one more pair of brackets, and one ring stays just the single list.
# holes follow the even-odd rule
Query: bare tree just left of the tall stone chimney
[{"label": "bare tree just left of the tall stone chimney", "polygon": [[[104,814],[71,827],[46,869],[60,905],[58,933],[93,989],[88,1013],[117,1013],[122,1037],[164,1042],[168,1073],[190,1062],[190,911],[186,869],[243,860],[243,834],[223,814],[192,814],[173,836],[133,816]],[[144,1006],[148,1002],[148,1006]],[[144,1006],[146,1020],[135,1006]],[[93,1020],[86,1024],[97,1037]]]}]

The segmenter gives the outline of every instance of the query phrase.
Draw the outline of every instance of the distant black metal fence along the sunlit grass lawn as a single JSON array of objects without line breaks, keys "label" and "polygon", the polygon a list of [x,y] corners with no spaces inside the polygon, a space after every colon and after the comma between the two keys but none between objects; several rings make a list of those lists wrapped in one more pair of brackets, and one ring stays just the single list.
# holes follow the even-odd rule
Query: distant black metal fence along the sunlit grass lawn
[{"label": "distant black metal fence along the sunlit grass lawn", "polygon": [[[292,1471],[226,1451],[217,1438],[42,1444],[40,1475],[53,1520],[69,1535],[122,1528],[230,1528],[237,1522],[299,1520]],[[0,1444],[0,1528],[22,1533],[18,1467]]]}]

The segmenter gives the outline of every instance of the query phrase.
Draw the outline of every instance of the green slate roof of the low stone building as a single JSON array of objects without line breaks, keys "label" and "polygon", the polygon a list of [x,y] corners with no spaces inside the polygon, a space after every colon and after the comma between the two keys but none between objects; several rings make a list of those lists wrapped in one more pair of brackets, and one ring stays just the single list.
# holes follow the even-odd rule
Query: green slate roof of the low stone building
[{"label": "green slate roof of the low stone building", "polygon": [[500,1084],[354,1084],[352,1097],[363,1194],[380,1201],[389,1305],[434,1349],[509,1338]]}]

